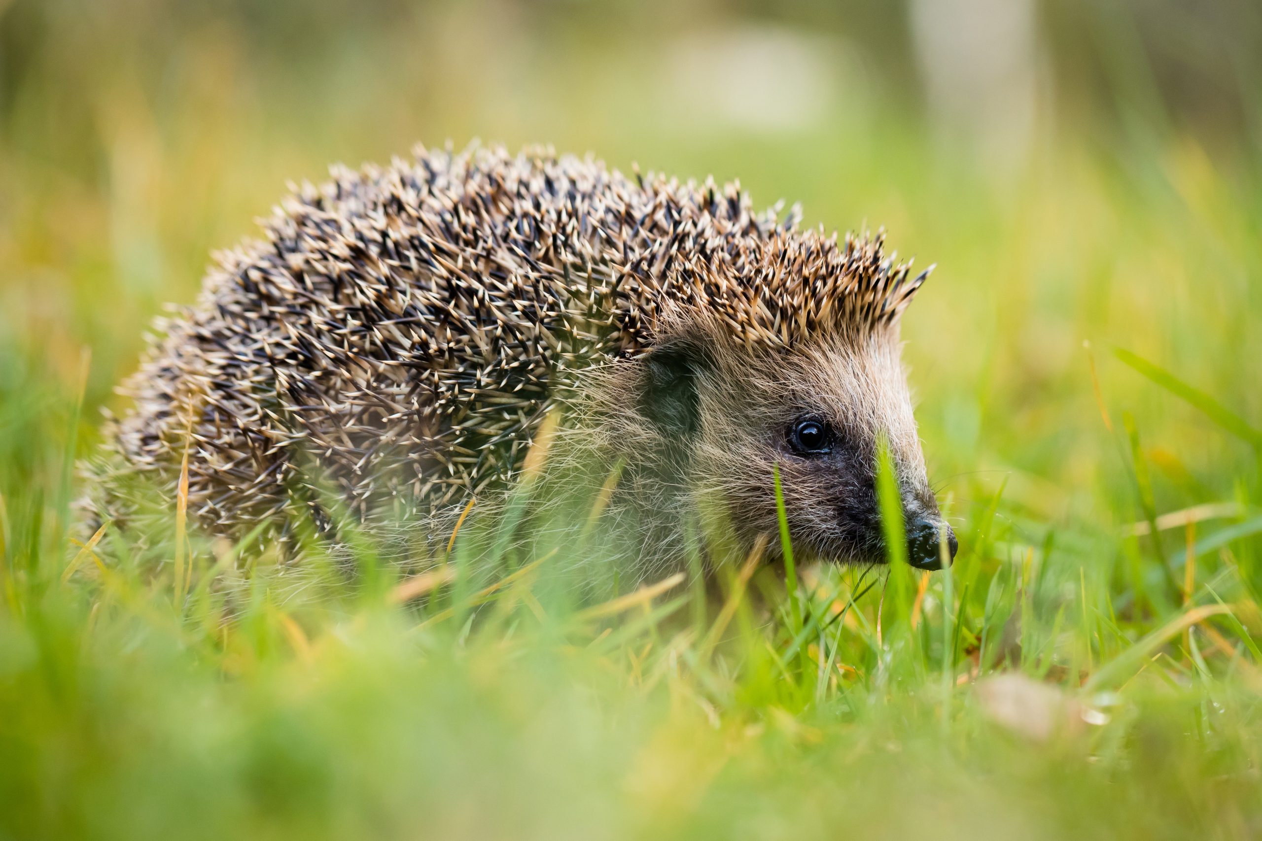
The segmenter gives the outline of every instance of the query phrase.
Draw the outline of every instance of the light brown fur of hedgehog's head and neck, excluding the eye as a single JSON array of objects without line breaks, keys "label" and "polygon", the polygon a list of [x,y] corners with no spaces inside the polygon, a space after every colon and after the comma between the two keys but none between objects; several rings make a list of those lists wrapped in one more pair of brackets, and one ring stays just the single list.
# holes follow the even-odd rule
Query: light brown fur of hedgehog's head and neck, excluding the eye
[{"label": "light brown fur of hedgehog's head and neck, excluding the eye", "polygon": [[[758,535],[777,532],[772,472],[779,467],[795,552],[881,562],[876,459],[885,436],[909,560],[936,567],[945,525],[925,474],[897,324],[770,349],[733,342],[707,319],[681,319],[645,359],[617,368],[598,386],[606,393],[598,412],[606,435],[594,440],[610,449],[606,459],[616,453],[627,464],[631,487],[620,499],[641,508],[637,522],[687,517],[692,508],[709,521],[709,531],[734,536],[736,547],[748,551]],[[655,382],[664,377],[671,382]],[[803,421],[825,430],[827,451],[795,446],[795,425]],[[645,485],[656,489],[647,506]],[[946,533],[954,554],[949,527]]]}]

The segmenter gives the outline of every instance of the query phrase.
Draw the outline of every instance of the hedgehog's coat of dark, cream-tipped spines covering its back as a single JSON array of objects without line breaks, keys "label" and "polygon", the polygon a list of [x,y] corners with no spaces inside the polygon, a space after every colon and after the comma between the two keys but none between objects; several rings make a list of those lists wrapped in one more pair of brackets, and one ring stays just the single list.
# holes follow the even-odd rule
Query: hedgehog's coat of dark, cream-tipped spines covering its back
[{"label": "hedgehog's coat of dark, cream-tipped spines covering its back", "polygon": [[103,514],[139,506],[135,473],[173,497],[186,445],[216,531],[321,521],[313,475],[360,514],[451,503],[511,474],[569,374],[646,349],[665,308],[789,344],[892,320],[920,280],[880,238],[777,228],[733,187],[500,149],[334,170],[266,233],[218,256],[129,383]]}]

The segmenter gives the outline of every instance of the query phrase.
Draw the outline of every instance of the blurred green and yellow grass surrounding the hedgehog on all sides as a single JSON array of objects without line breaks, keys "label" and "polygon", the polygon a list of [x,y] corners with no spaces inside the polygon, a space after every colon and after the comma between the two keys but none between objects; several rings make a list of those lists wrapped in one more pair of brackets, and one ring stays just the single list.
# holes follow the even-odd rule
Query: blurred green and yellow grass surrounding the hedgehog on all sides
[{"label": "blurred green and yellow grass surrounding the hedgehog on all sides", "polygon": [[[1251,0],[0,0],[0,837],[1256,836],[1259,91]],[[207,624],[169,581],[59,584],[69,459],[208,252],[286,180],[473,137],[740,178],[939,265],[904,337],[963,551],[909,579],[911,642],[867,596],[817,692],[800,628],[712,662],[651,623],[418,641],[371,588],[260,575]],[[1189,541],[1188,609],[1244,624],[1146,647]],[[1109,722],[1027,743],[943,688],[1006,628]]]}]

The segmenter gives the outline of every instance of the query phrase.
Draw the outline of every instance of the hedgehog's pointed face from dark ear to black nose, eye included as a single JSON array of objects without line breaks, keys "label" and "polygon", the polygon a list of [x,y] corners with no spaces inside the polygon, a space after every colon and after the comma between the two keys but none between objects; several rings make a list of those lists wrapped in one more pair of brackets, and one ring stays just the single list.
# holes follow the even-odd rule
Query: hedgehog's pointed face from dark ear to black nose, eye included
[{"label": "hedgehog's pointed face from dark ear to black nose, eye included", "polygon": [[925,475],[896,328],[774,353],[676,342],[651,353],[647,368],[647,414],[676,441],[698,498],[724,511],[743,543],[777,530],[779,465],[796,552],[883,561],[876,463],[885,436],[910,562],[940,566],[943,535],[954,556],[955,536]]}]

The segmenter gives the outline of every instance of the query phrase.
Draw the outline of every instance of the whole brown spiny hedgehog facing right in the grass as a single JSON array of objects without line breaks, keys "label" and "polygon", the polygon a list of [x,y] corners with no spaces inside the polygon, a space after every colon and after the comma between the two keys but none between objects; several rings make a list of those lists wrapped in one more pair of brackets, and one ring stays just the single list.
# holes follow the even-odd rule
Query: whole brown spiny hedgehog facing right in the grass
[{"label": "whole brown spiny hedgehog facing right in the grass", "polygon": [[617,473],[602,516],[640,523],[623,537],[645,569],[681,565],[698,519],[765,542],[774,475],[796,554],[877,564],[885,441],[907,557],[936,569],[957,541],[899,329],[929,271],[887,255],[883,231],[799,218],[756,212],[738,183],[549,148],[333,168],[159,319],[87,508],[126,528],[187,482],[189,521],[228,538],[333,535],[331,494],[360,523],[403,512],[437,531],[504,499],[550,438],[562,485]]}]

